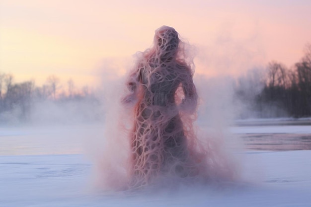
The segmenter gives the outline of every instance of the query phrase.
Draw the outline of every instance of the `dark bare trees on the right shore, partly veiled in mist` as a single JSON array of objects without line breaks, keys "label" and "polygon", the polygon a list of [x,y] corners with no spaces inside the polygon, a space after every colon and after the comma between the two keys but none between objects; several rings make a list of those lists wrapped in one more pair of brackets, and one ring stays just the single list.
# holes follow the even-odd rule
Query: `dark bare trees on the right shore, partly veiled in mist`
[{"label": "dark bare trees on the right shore, partly veiled in mist", "polygon": [[291,68],[273,61],[265,74],[250,80],[250,87],[261,85],[259,91],[250,90],[251,94],[247,94],[239,85],[235,92],[240,100],[251,103],[257,117],[311,117],[311,44],[306,45],[301,61]]}]

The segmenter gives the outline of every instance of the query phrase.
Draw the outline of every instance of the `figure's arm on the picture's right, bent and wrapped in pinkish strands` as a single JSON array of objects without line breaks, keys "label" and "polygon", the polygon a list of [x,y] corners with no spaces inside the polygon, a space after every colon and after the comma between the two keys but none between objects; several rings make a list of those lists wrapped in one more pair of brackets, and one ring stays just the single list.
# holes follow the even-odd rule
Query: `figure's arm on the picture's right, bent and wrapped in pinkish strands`
[{"label": "figure's arm on the picture's right, bent and wrapped in pinkish strands", "polygon": [[193,83],[191,70],[184,66],[182,73],[181,84],[185,97],[182,99],[179,108],[182,111],[194,113],[197,108],[198,95]]}]

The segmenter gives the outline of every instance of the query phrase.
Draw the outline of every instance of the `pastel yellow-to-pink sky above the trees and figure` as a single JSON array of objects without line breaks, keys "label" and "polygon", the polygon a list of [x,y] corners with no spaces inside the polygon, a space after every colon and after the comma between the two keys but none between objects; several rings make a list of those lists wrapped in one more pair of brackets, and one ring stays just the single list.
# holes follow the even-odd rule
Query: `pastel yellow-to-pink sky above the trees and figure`
[{"label": "pastel yellow-to-pink sky above the trees and figure", "polygon": [[122,74],[161,25],[196,47],[197,74],[236,75],[272,60],[290,67],[311,42],[310,0],[1,0],[0,8],[0,72],[38,85],[51,74],[79,86],[109,69]]}]

